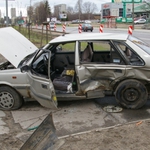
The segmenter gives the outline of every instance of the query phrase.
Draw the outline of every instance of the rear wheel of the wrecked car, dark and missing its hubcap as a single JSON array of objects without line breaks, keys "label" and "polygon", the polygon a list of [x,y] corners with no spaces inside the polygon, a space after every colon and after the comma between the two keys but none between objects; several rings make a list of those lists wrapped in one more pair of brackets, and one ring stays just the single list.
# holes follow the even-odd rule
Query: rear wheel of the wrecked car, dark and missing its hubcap
[{"label": "rear wheel of the wrecked car, dark and missing its hubcap", "polygon": [[129,79],[121,82],[115,91],[116,101],[124,108],[139,109],[148,99],[146,87],[139,81]]}]

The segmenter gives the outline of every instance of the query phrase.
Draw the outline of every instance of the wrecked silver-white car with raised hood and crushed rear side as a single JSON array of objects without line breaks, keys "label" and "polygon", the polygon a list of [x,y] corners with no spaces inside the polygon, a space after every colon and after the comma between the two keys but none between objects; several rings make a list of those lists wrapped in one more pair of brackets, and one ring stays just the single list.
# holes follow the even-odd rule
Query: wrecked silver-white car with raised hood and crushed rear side
[{"label": "wrecked silver-white car with raised hood and crushed rear side", "polygon": [[0,39],[1,54],[9,60],[0,65],[2,110],[20,108],[24,98],[55,108],[57,100],[115,95],[130,109],[148,99],[150,46],[140,39],[127,34],[66,34],[37,50],[29,41],[23,44],[27,39],[11,27],[0,29],[0,35],[7,32],[12,39]]}]

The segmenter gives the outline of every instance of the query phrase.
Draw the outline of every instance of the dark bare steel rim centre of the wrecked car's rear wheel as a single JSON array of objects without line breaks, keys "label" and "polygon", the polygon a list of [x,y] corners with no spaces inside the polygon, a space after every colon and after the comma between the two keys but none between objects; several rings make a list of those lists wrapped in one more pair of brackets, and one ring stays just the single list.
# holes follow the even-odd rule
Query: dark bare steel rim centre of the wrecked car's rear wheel
[{"label": "dark bare steel rim centre of the wrecked car's rear wheel", "polygon": [[127,101],[133,102],[139,98],[139,93],[136,89],[127,89],[124,96]]}]

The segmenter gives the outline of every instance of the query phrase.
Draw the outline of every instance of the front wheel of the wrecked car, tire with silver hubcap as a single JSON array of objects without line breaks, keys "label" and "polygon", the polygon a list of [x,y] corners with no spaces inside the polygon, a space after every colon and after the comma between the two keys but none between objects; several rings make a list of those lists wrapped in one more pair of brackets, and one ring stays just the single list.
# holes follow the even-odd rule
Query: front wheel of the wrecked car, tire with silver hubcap
[{"label": "front wheel of the wrecked car, tire with silver hubcap", "polygon": [[11,87],[0,87],[0,109],[16,110],[23,105],[23,98]]}]

